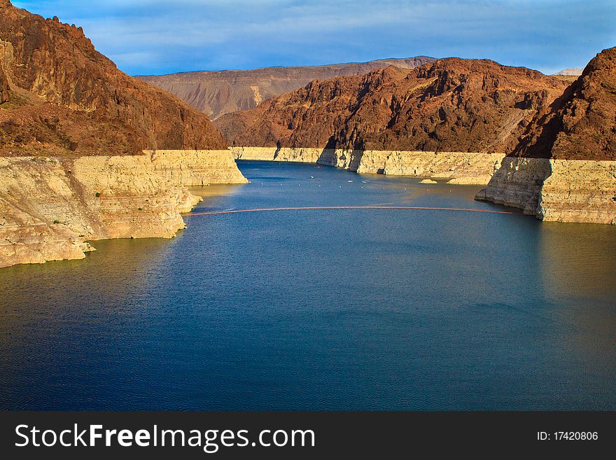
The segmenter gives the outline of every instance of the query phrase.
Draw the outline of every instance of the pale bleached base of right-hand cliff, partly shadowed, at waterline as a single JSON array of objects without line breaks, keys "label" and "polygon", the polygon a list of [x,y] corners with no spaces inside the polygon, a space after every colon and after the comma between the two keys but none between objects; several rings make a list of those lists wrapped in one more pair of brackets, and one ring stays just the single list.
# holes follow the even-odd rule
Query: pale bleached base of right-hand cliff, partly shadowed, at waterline
[{"label": "pale bleached base of right-hand cliff, partly shadowed, at waterline", "polygon": [[616,224],[616,161],[505,158],[477,200],[543,221]]}]

